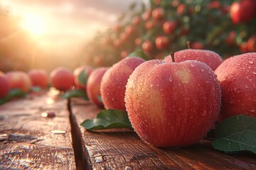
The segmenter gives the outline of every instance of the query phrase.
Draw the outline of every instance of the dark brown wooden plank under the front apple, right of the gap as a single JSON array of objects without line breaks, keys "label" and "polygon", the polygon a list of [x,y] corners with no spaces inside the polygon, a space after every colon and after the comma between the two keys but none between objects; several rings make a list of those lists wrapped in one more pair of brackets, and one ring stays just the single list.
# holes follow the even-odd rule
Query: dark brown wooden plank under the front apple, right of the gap
[{"label": "dark brown wooden plank under the front apple, right of the gap", "polygon": [[71,102],[73,119],[81,133],[87,169],[256,169],[255,154],[224,154],[210,140],[181,149],[147,145],[135,132],[88,132],[80,123],[94,118],[100,108],[87,101]]}]

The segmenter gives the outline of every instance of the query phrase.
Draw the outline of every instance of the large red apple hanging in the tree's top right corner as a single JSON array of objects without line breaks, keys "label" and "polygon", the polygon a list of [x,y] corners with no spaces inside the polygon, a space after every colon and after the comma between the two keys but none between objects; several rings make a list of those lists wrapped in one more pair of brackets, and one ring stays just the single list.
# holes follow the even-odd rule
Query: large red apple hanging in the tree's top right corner
[{"label": "large red apple hanging in the tree's top right corner", "polygon": [[230,6],[230,17],[233,23],[247,23],[256,12],[255,0],[234,1]]}]

